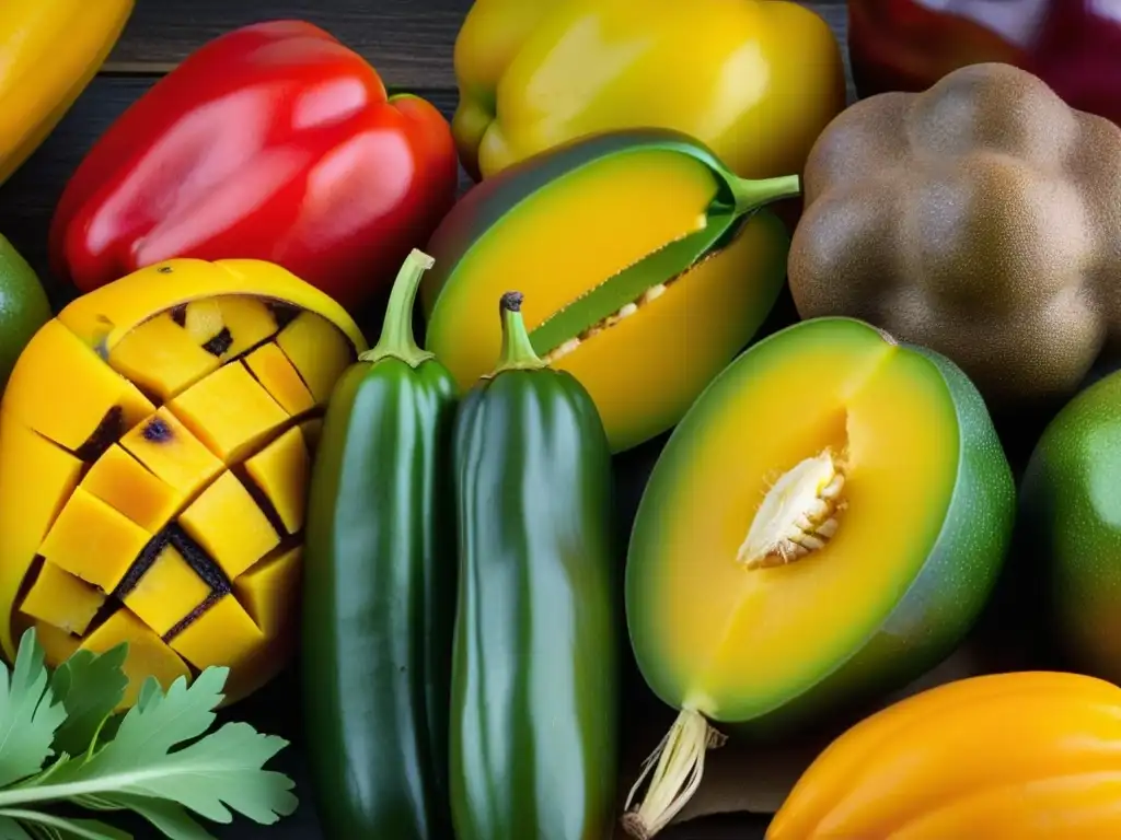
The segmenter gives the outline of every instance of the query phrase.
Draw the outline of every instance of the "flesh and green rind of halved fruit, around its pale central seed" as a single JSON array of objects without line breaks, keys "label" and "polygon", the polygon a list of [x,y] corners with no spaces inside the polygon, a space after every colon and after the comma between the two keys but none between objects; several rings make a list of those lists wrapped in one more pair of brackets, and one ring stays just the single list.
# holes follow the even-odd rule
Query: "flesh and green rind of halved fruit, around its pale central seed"
[{"label": "flesh and green rind of halved fruit, around its pale central seed", "polygon": [[[824,396],[818,405],[803,393],[789,409],[791,394],[807,382],[817,394],[846,391],[841,368],[849,364],[846,348],[859,348],[851,370],[880,371],[872,375],[887,384],[864,389],[879,396],[862,402]],[[791,360],[799,362],[794,365]],[[793,365],[796,379],[775,377],[772,372],[785,365]],[[831,371],[830,365],[836,367]],[[891,379],[883,374],[892,370],[906,373]],[[754,384],[768,377],[773,389]],[[905,388],[919,377],[927,402],[904,419],[896,417],[892,403],[907,401]],[[751,388],[762,389],[752,392],[758,399],[743,396]],[[788,410],[799,413],[794,417]],[[821,421],[816,426],[815,413]],[[734,491],[723,488],[730,482],[761,482],[766,489],[766,476],[751,472],[753,467],[743,474],[739,465],[754,464],[753,454],[776,447],[777,440],[787,446],[785,432],[772,431],[775,423],[797,430],[805,421],[804,428],[813,430],[830,426],[835,417],[842,418],[844,433],[853,440],[859,433],[864,451],[897,447],[891,457],[868,456],[865,460],[877,466],[863,473],[858,460],[849,486],[865,498],[871,491],[859,491],[859,485],[879,487],[881,502],[884,496],[914,495],[916,502],[900,502],[907,506],[893,512],[911,516],[914,535],[907,532],[905,540],[884,548],[888,543],[878,534],[899,530],[892,512],[886,516],[880,503],[869,498],[864,504],[854,495],[817,568],[813,556],[769,570],[736,567],[736,545],[753,513],[750,500],[741,510],[739,498],[724,498]],[[929,497],[914,485],[923,480],[911,475],[914,465],[893,466],[910,457],[909,448],[924,447],[921,430],[912,431],[916,423],[937,424],[944,448],[926,461],[916,460],[934,465],[928,478],[939,489]],[[789,440],[800,435],[793,431]],[[816,455],[818,448],[798,451],[799,446],[791,450],[795,459]],[[779,472],[789,468],[789,452],[782,451],[787,466]],[[769,739],[846,713],[921,675],[961,643],[1002,568],[1012,536],[1015,491],[984,402],[952,362],[854,319],[818,318],[787,327],[753,345],[708,385],[674,430],[650,476],[627,560],[627,619],[638,666],[667,704],[689,708],[719,729],[753,738]],[[710,514],[700,513],[691,497],[702,498],[700,505]],[[711,522],[702,521],[703,515],[711,515]],[[845,530],[851,534],[858,528],[858,516],[865,536],[842,543]],[[731,536],[713,536],[712,531]],[[877,560],[854,568],[854,560],[870,558]],[[874,567],[892,563],[906,571],[890,582],[876,577]],[[814,580],[831,582],[823,587]],[[868,591],[876,595],[860,601],[867,614],[852,615],[845,603]],[[788,622],[779,614],[800,618]],[[719,637],[696,629],[701,615],[712,617]],[[773,629],[779,620],[785,634]],[[810,642],[810,625],[832,629]],[[770,650],[758,651],[763,644]],[[799,659],[795,668],[789,665],[795,656],[812,659]],[[752,668],[763,670],[751,674]]]}]

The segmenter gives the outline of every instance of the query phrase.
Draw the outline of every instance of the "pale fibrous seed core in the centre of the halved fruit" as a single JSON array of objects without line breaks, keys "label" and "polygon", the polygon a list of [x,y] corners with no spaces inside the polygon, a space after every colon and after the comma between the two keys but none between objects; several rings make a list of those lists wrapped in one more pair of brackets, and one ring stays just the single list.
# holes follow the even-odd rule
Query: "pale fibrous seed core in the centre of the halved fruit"
[{"label": "pale fibrous seed core in the centre of the halved fruit", "polygon": [[828,447],[796,464],[768,491],[736,560],[748,569],[769,569],[825,548],[845,507],[844,482],[844,461]]}]

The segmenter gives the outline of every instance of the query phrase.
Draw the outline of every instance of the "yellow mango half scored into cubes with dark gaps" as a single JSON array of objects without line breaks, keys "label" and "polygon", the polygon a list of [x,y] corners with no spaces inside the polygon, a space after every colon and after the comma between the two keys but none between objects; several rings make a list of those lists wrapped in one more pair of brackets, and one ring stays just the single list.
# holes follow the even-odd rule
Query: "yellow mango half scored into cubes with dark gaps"
[{"label": "yellow mango half scored into cubes with dark gaps", "polygon": [[226,665],[224,702],[294,650],[307,477],[335,380],[367,348],[284,269],[168,260],[81,297],[0,402],[0,646],[50,665],[129,643],[148,676]]}]

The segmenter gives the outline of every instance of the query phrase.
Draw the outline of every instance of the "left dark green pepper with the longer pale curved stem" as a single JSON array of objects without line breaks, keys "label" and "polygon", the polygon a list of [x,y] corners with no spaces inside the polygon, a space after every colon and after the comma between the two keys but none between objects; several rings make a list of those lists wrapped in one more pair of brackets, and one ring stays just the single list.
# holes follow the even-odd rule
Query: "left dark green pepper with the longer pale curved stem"
[{"label": "left dark green pepper with the longer pale curved stem", "polygon": [[307,515],[302,680],[327,837],[446,840],[455,383],[413,338],[414,251],[331,395]]}]

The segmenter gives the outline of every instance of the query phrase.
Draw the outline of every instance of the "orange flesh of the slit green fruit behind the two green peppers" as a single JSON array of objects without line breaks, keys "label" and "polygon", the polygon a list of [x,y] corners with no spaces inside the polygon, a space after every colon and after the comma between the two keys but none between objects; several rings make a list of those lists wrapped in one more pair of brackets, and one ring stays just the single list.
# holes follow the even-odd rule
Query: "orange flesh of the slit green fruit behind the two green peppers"
[{"label": "orange flesh of the slit green fruit behind the two green peppers", "polygon": [[[704,228],[719,189],[704,160],[640,147],[584,162],[509,206],[497,192],[474,205],[465,199],[429,243],[427,348],[466,390],[498,358],[494,310],[503,292],[524,293],[532,332],[613,274]],[[587,389],[614,451],[670,428],[751,339],[781,287],[787,245],[782,224],[760,211],[722,251],[651,287],[637,311],[549,360]]]}]

